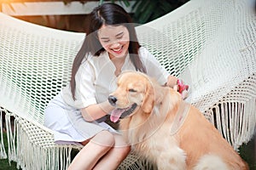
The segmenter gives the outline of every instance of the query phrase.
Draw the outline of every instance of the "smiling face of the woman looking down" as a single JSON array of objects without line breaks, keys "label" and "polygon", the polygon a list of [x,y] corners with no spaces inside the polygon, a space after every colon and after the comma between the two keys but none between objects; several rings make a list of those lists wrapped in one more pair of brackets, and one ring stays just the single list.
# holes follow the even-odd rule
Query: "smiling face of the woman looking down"
[{"label": "smiling face of the woman looking down", "polygon": [[128,54],[130,38],[125,26],[103,25],[98,31],[98,38],[110,59],[122,58]]}]

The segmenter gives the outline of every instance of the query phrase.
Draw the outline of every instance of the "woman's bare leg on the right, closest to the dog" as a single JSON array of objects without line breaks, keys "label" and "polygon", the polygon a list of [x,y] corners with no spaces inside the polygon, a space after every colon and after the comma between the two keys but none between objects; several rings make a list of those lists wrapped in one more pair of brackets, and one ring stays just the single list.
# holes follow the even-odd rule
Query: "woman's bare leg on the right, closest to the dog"
[{"label": "woman's bare leg on the right, closest to the dog", "polygon": [[119,134],[113,134],[114,145],[108,153],[97,162],[94,170],[117,169],[119,164],[124,161],[129,154],[131,147],[125,143],[125,140]]}]

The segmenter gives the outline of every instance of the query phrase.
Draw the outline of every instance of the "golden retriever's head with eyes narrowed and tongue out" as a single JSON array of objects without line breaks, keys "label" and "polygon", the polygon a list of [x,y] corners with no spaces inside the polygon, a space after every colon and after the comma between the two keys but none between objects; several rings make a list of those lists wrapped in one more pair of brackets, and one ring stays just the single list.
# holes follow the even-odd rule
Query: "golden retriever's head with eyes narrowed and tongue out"
[{"label": "golden retriever's head with eyes narrowed and tongue out", "polygon": [[111,113],[111,121],[131,116],[138,109],[150,113],[154,107],[154,87],[148,76],[137,71],[125,71],[119,75],[118,88],[108,96],[108,101],[116,109]]}]

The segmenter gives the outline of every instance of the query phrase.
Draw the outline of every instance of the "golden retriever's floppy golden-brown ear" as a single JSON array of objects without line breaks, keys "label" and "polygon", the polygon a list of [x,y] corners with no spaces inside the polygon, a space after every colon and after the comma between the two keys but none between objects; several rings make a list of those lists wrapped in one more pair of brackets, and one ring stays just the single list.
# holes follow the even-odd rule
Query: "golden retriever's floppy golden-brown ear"
[{"label": "golden retriever's floppy golden-brown ear", "polygon": [[151,83],[147,84],[147,87],[145,89],[145,96],[143,98],[143,103],[141,105],[143,111],[145,113],[151,113],[151,111],[154,108],[154,88]]}]

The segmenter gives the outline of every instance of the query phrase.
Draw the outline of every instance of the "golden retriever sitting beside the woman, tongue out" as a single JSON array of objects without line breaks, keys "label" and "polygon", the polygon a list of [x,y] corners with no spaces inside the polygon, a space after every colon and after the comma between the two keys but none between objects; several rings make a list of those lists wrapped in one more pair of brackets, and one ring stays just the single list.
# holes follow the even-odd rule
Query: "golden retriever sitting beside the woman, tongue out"
[{"label": "golden retriever sitting beside the woman, tongue out", "polygon": [[137,71],[118,77],[108,100],[124,138],[158,169],[243,170],[247,163],[194,106],[173,88]]}]

